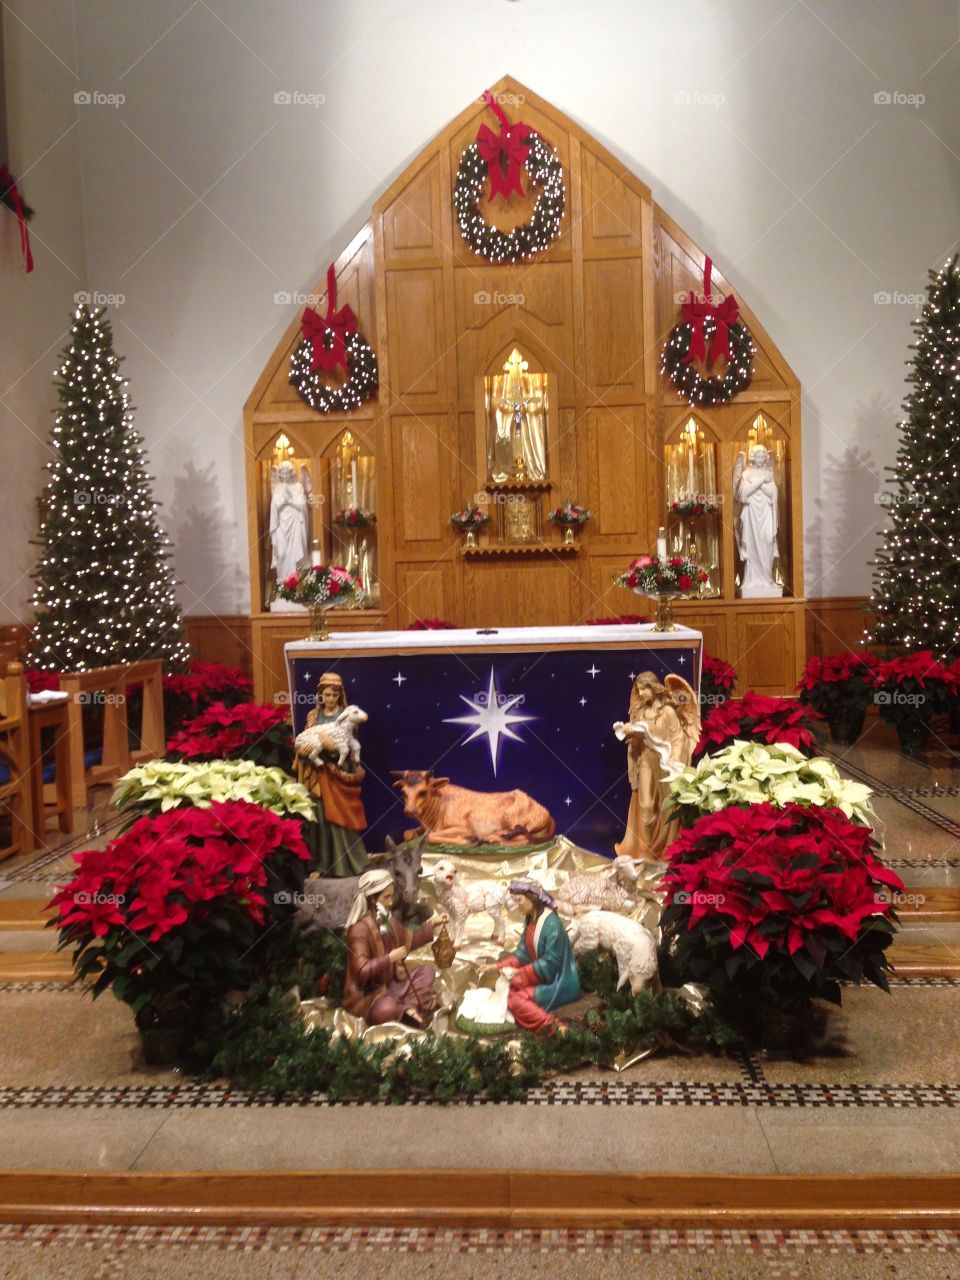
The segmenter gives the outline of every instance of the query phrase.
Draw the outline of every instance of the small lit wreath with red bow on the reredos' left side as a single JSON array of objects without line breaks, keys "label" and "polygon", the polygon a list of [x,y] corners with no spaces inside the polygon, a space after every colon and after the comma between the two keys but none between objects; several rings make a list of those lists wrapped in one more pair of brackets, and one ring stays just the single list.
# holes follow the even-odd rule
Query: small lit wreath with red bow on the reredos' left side
[{"label": "small lit wreath with red bow on the reredos' left side", "polygon": [[[376,356],[357,330],[348,306],[337,310],[337,275],[326,269],[326,315],[311,307],[301,321],[302,340],[291,356],[289,381],[311,408],[321,413],[347,413],[375,394],[379,385]],[[324,374],[342,367],[347,381],[332,387]]]}]

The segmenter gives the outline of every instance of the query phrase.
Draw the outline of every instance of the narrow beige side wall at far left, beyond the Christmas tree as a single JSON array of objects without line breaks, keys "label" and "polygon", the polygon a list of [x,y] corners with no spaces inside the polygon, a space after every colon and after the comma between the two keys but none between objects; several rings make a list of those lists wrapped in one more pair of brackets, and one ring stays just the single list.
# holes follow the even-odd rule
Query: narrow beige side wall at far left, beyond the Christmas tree
[{"label": "narrow beige side wall at far left, beyond the Christmas tree", "polygon": [[35,210],[35,269],[24,274],[17,219],[0,206],[0,623],[29,617],[51,376],[86,283],[73,0],[5,0],[4,10],[10,168]]}]

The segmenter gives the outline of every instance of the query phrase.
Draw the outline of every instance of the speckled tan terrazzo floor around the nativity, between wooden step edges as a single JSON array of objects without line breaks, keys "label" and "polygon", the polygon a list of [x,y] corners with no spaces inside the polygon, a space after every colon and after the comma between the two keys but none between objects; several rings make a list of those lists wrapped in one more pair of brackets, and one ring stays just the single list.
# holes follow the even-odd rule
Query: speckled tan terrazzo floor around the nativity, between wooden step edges
[{"label": "speckled tan terrazzo floor around the nativity, between wooden step edges", "polygon": [[[936,744],[905,760],[884,726],[832,749],[877,791],[884,856],[910,886],[960,884],[960,769]],[[87,829],[5,864],[1,897],[42,897]],[[950,942],[960,925],[913,925]],[[31,933],[29,948],[52,934]],[[9,940],[6,940],[9,947]],[[17,945],[17,943],[14,943]],[[411,1169],[580,1167],[704,1172],[960,1174],[960,983],[845,992],[803,1059],[659,1053],[581,1071],[526,1103],[389,1108]],[[705,1115],[709,1112],[709,1115]],[[0,987],[0,1167],[323,1169],[383,1164],[384,1108],[265,1100],[147,1070],[127,1010],[63,984]],[[709,1140],[704,1140],[709,1134]],[[664,1156],[668,1153],[668,1156]],[[369,1158],[367,1158],[369,1157]],[[0,1277],[620,1276],[957,1277],[952,1233],[484,1233],[0,1228]]]}]

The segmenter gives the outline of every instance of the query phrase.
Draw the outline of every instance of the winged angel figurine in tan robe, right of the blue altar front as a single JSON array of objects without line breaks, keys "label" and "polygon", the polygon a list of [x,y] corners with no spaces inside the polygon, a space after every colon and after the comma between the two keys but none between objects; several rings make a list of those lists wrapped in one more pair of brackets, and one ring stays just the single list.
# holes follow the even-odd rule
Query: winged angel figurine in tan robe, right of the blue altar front
[{"label": "winged angel figurine in tan robe, right of the blue altar front", "polygon": [[613,732],[627,744],[627,777],[632,794],[627,828],[616,845],[618,856],[657,861],[676,838],[677,822],[663,814],[666,783],[690,764],[700,740],[700,704],[682,676],[641,672],[630,692],[630,722]]}]

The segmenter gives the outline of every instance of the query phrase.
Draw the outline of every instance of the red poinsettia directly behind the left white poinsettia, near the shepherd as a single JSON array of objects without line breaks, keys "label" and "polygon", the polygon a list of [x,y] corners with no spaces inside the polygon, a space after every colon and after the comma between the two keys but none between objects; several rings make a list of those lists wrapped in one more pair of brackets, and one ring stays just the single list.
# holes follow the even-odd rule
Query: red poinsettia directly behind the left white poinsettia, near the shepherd
[{"label": "red poinsettia directly behind the left white poinsettia, near the shepherd", "polygon": [[293,769],[293,732],[285,707],[212,703],[166,744],[170,760],[252,760]]}]

